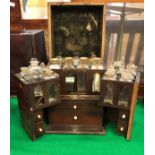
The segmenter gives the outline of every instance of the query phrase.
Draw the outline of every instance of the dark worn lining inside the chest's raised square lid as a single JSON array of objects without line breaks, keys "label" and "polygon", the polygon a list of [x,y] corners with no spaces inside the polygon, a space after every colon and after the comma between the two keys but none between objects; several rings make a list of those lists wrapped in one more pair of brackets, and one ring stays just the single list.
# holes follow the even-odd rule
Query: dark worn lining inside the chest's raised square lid
[{"label": "dark worn lining inside the chest's raised square lid", "polygon": [[51,6],[53,56],[101,57],[102,6]]}]

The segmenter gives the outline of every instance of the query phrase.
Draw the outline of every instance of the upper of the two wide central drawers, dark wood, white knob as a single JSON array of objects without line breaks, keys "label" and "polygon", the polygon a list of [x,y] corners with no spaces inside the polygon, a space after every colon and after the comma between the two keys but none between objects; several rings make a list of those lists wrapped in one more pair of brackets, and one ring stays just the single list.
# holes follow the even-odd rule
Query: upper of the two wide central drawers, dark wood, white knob
[{"label": "upper of the two wide central drawers, dark wood, white knob", "polygon": [[61,104],[53,106],[53,109],[67,109],[67,110],[98,110],[100,107],[97,102],[88,101],[62,101]]}]

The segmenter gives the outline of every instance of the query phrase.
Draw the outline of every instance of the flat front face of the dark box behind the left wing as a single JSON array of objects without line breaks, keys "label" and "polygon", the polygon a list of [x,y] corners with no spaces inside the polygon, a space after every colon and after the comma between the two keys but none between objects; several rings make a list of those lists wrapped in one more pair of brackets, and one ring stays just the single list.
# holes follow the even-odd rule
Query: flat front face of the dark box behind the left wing
[{"label": "flat front face of the dark box behind the left wing", "polygon": [[32,57],[31,35],[10,35],[10,89],[11,94],[16,94],[14,85],[14,74],[20,71],[20,67],[28,66]]}]

